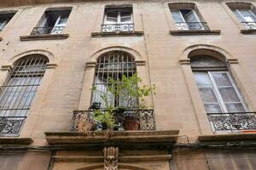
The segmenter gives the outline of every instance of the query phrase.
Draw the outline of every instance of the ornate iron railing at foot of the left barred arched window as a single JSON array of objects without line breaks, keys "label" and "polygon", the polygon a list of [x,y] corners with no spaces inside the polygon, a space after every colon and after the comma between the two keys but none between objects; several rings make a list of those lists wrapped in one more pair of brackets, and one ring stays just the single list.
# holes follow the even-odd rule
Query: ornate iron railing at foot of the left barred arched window
[{"label": "ornate iron railing at foot of the left barred arched window", "polygon": [[19,136],[26,116],[0,116],[0,136]]}]

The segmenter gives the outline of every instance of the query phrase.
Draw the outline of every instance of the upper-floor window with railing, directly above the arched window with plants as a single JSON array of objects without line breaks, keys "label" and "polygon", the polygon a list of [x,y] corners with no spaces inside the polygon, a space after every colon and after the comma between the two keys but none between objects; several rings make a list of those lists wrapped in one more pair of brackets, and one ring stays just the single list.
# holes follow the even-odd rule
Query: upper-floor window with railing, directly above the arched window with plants
[{"label": "upper-floor window with railing, directly above the arched window with plants", "polygon": [[132,8],[106,8],[102,32],[133,31]]}]

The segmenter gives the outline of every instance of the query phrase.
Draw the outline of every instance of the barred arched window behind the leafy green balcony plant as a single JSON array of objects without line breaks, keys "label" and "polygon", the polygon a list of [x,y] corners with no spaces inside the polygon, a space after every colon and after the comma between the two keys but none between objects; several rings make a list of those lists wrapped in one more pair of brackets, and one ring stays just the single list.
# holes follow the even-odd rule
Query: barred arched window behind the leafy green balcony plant
[{"label": "barred arched window behind the leafy green balcony plant", "polygon": [[[113,78],[114,80],[122,81],[124,76],[131,77],[135,73],[136,65],[131,54],[121,51],[112,51],[102,54],[96,64],[96,75],[94,81],[96,91],[93,94],[92,102],[97,103],[104,108],[105,102],[102,101],[101,95],[107,94],[108,102],[113,106],[129,107],[122,96],[111,94],[108,91],[108,86],[110,84],[109,79]],[[129,98],[129,96],[126,97]],[[137,99],[132,100],[137,102]]]}]

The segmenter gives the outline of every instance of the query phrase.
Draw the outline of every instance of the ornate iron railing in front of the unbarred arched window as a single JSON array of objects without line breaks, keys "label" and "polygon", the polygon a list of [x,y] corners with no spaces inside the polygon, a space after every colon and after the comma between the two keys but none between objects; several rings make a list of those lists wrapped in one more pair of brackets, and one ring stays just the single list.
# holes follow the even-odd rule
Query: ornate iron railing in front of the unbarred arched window
[{"label": "ornate iron railing in front of the unbarred arched window", "polygon": [[255,112],[207,113],[213,133],[246,133],[256,130]]}]

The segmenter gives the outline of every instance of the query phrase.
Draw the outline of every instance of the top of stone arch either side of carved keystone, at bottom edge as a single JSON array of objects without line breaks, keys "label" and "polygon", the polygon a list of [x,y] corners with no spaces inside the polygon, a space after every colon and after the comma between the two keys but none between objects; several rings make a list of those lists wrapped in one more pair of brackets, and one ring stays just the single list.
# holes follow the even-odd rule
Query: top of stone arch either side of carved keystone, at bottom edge
[{"label": "top of stone arch either side of carved keystone, at bottom edge", "polygon": [[[102,169],[102,168],[103,168],[103,164],[99,163],[99,164],[94,164],[94,165],[90,165],[90,166],[75,168],[74,170],[94,170],[94,169],[98,170],[98,169]],[[151,170],[146,167],[141,167],[141,166],[128,164],[128,163],[119,163],[119,168],[131,169],[131,170]]]}]

